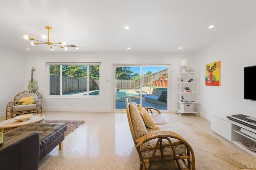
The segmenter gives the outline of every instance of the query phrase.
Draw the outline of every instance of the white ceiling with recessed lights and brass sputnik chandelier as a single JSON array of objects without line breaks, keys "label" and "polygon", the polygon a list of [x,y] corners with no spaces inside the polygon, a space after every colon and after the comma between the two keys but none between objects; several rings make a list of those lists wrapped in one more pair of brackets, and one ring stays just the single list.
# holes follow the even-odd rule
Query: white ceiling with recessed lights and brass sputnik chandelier
[{"label": "white ceiling with recessed lights and brass sputnik chandelier", "polygon": [[[0,47],[22,53],[193,53],[254,23],[256,0],[0,0]],[[42,40],[45,26],[52,27],[50,42],[79,50],[52,51],[24,40]]]}]

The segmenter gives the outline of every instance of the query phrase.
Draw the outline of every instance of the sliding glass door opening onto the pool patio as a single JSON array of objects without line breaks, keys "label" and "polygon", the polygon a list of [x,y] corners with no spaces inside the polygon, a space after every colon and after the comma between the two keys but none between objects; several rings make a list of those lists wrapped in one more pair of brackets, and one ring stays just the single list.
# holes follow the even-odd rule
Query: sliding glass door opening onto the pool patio
[{"label": "sliding glass door opening onto the pool patio", "polygon": [[129,98],[143,107],[168,110],[168,65],[114,65],[114,110]]}]

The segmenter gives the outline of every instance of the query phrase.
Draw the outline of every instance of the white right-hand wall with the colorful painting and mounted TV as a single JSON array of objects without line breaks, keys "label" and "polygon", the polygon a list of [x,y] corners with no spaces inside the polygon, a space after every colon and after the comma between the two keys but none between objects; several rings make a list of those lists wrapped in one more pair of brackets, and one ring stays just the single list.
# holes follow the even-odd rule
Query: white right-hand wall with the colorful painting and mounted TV
[{"label": "white right-hand wall with the colorful painting and mounted TV", "polygon": [[[220,61],[220,87],[206,86],[205,65],[215,61]],[[213,114],[256,117],[256,101],[243,99],[244,67],[256,65],[256,24],[198,51],[194,54],[194,64],[200,71],[201,117],[208,120]]]}]

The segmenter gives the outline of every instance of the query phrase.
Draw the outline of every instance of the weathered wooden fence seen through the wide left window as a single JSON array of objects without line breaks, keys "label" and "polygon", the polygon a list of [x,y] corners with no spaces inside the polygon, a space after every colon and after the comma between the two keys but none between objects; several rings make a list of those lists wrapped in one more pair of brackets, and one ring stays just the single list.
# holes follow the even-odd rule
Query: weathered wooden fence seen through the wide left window
[{"label": "weathered wooden fence seen through the wide left window", "polygon": [[[100,80],[89,81],[89,89],[100,87]],[[62,94],[87,91],[87,78],[62,77]],[[60,95],[60,76],[50,75],[50,95]]]}]

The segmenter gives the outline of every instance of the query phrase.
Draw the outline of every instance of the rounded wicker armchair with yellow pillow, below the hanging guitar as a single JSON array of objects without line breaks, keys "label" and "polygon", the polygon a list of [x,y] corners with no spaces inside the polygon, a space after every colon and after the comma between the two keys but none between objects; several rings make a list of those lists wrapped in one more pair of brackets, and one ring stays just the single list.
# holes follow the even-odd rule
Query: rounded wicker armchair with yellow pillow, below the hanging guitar
[{"label": "rounded wicker armchair with yellow pillow, below the hanging guitar", "polygon": [[[22,105],[19,100],[34,97],[34,104]],[[37,91],[23,91],[14,97],[6,106],[6,120],[23,114],[42,114],[42,96]]]}]

